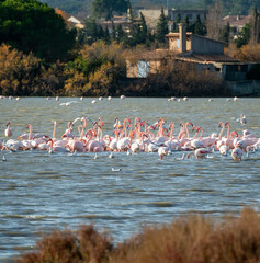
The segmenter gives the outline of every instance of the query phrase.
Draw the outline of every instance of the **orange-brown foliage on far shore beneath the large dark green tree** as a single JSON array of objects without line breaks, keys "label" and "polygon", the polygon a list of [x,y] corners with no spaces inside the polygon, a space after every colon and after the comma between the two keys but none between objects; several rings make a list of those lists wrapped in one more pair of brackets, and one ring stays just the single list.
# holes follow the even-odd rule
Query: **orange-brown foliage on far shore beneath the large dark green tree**
[{"label": "orange-brown foliage on far shore beneath the large dark green tree", "polygon": [[63,64],[45,68],[32,53],[0,46],[0,94],[56,95],[63,92],[64,81]]}]

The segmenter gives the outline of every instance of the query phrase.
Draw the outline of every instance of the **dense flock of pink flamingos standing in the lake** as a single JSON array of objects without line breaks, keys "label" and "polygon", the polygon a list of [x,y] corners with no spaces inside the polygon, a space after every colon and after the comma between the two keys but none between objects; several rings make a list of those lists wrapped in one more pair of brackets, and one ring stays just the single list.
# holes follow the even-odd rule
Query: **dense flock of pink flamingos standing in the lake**
[{"label": "dense flock of pink flamingos standing in the lake", "polygon": [[[87,124],[90,126],[89,128],[87,128]],[[68,123],[61,138],[57,138],[56,122],[54,122],[52,136],[33,133],[32,125],[29,124],[29,133],[20,135],[18,139],[0,140],[0,149],[11,152],[45,150],[49,153],[70,152],[74,155],[110,151],[111,158],[113,152],[127,152],[127,155],[158,152],[160,159],[174,151],[183,151],[182,159],[210,158],[210,153],[219,152],[223,156],[231,156],[237,161],[241,160],[244,153],[248,155],[250,151],[260,149],[260,138],[247,129],[242,134],[231,130],[228,122],[219,123],[222,128],[219,134],[211,134],[206,137],[203,136],[204,129],[191,122],[181,122],[180,128],[174,132],[177,125],[173,122],[167,125],[165,118],[158,119],[152,125],[138,117],[134,123],[128,118],[123,122],[115,118],[113,135],[103,135],[103,125],[101,117],[97,122],[86,117],[76,118]],[[12,137],[10,122],[7,123],[4,135]]]}]

